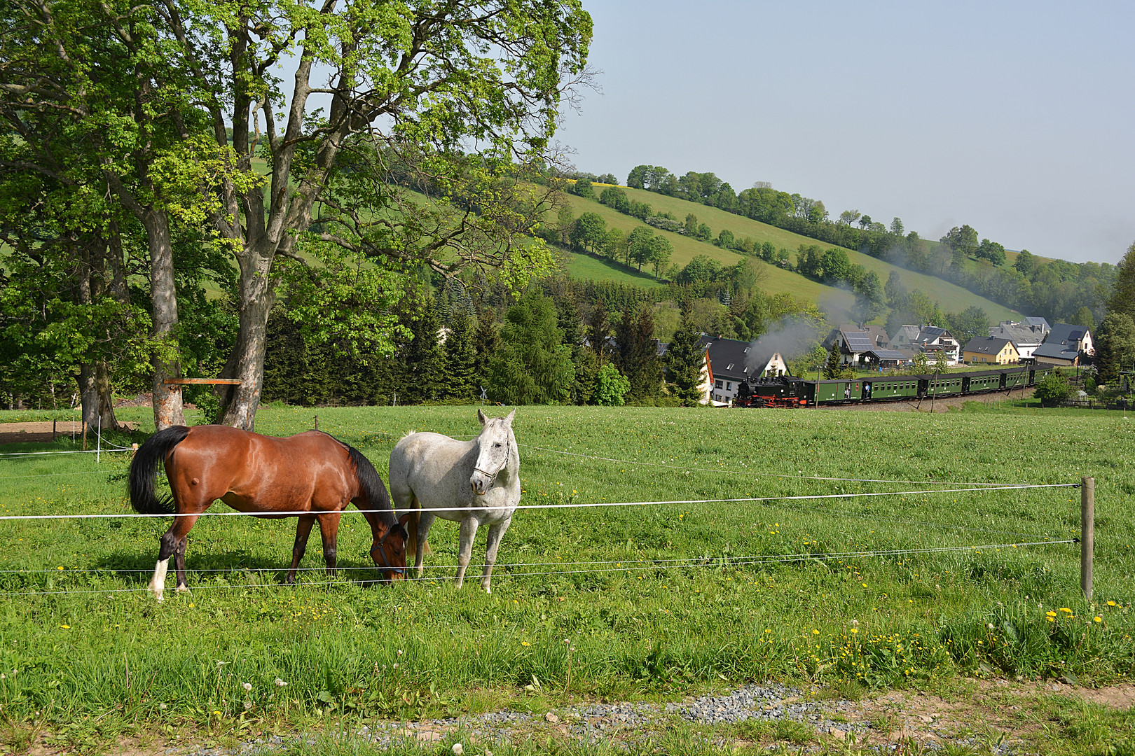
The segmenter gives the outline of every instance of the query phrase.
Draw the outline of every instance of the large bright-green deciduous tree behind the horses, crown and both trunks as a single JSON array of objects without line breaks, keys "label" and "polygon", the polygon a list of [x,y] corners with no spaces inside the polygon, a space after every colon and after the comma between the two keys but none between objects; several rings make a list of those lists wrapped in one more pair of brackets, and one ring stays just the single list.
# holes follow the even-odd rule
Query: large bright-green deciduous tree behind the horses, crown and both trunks
[{"label": "large bright-green deciduous tree behind the horses, crown and both trunks", "polygon": [[[316,281],[308,312],[335,306],[328,278],[370,277],[390,304],[421,262],[493,267],[514,287],[549,262],[527,236],[550,189],[516,179],[587,76],[579,0],[15,2],[51,67],[7,67],[0,84],[87,129],[146,231],[154,334],[176,346],[175,223],[209,228],[235,258],[226,424],[253,426],[281,260]],[[328,266],[328,246],[372,265]],[[370,325],[358,338],[390,351],[392,323]],[[161,427],[180,421],[161,396],[180,368],[153,362]]]}]

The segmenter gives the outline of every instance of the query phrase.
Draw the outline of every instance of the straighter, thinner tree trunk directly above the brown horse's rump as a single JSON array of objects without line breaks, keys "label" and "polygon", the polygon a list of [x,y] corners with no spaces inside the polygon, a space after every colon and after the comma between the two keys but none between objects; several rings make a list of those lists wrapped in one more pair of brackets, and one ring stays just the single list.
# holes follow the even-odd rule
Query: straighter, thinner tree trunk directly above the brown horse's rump
[{"label": "straighter, thinner tree trunk directly above the brown horse's rump", "polygon": [[185,425],[182,388],[166,385],[167,377],[182,376],[177,354],[177,289],[174,282],[174,248],[169,238],[169,219],[149,210],[143,219],[150,243],[150,298],[153,300],[153,334],[167,341],[174,355],[169,360],[153,356],[153,424],[158,431],[171,425]]}]

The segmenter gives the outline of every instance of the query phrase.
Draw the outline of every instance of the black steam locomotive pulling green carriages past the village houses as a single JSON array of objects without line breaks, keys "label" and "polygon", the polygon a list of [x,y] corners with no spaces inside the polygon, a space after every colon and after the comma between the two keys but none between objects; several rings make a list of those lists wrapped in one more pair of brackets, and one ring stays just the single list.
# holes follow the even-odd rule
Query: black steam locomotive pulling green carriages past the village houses
[{"label": "black steam locomotive pulling green carriages past the village houses", "polygon": [[878,375],[829,381],[806,381],[792,375],[749,377],[739,387],[733,406],[819,407],[1011,391],[1035,385],[1054,369],[1054,366],[1046,365],[1014,365],[972,373]]}]

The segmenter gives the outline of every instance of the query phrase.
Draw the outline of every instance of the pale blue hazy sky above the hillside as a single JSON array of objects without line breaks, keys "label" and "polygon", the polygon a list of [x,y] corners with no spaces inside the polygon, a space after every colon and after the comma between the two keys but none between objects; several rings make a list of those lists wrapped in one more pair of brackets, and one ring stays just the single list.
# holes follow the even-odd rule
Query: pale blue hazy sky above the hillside
[{"label": "pale blue hazy sky above the hillside", "polygon": [[1117,262],[1135,240],[1135,3],[583,0],[580,170],[771,181],[939,238]]}]

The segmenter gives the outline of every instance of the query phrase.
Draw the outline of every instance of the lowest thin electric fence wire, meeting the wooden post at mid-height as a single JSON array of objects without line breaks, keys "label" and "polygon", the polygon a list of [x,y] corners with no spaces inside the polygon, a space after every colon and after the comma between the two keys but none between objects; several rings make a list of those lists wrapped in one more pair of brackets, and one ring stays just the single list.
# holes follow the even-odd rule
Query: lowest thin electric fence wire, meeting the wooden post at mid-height
[{"label": "lowest thin electric fence wire, meeting the wooden post at mid-height", "polygon": [[[1000,551],[1001,549],[1018,549],[1027,546],[1052,546],[1059,544],[1075,543],[1074,538],[1067,538],[1063,541],[1042,541],[1034,543],[1000,543],[1000,544],[981,544],[981,545],[969,545],[969,546],[934,546],[925,549],[891,549],[891,550],[875,550],[875,551],[859,551],[859,552],[842,552],[842,553],[831,553],[831,554],[814,554],[814,553],[799,553],[799,554],[768,554],[762,557],[741,557],[741,558],[730,558],[729,560],[708,560],[699,558],[700,562],[687,562],[687,563],[669,563],[669,564],[647,564],[642,567],[614,567],[614,568],[599,568],[594,570],[541,570],[535,572],[502,572],[494,577],[497,578],[518,578],[518,577],[547,577],[554,575],[595,575],[604,572],[638,572],[645,570],[666,570],[675,568],[688,568],[688,567],[738,567],[738,566],[758,566],[758,564],[775,564],[775,563],[792,563],[801,561],[826,561],[831,559],[844,560],[844,559],[872,559],[876,557],[903,557],[909,554],[942,554],[950,552],[974,552],[974,551],[989,551],[991,549]],[[591,563],[611,563],[611,562],[591,562]],[[619,562],[615,562],[616,564]],[[533,566],[537,566],[533,563]],[[451,569],[455,566],[447,566]],[[470,566],[473,567],[473,566]],[[499,564],[497,567],[505,567]],[[382,571],[381,568],[358,568],[358,569],[373,569]],[[468,567],[466,567],[468,569]],[[283,571],[280,568],[276,571]],[[149,571],[149,570],[145,570]],[[194,571],[194,570],[187,570]],[[196,570],[201,571],[201,570]],[[242,572],[244,570],[241,570]],[[252,570],[247,570],[252,572]],[[420,578],[403,578],[407,583],[418,581],[437,581],[437,580],[455,580],[456,576],[445,576],[445,577],[420,577]],[[474,576],[470,576],[470,579],[474,579]],[[401,581],[401,580],[398,580]],[[300,583],[299,587],[321,587],[321,586],[334,586],[334,585],[367,585],[368,583],[373,583],[373,580],[329,580],[323,583]],[[252,584],[252,585],[201,585],[195,586],[193,591],[200,589],[252,589],[252,588],[274,588],[278,587],[279,584]],[[289,588],[292,586],[288,586]],[[79,595],[79,594],[117,594],[117,593],[144,593],[149,592],[149,587],[140,588],[91,588],[91,589],[77,589],[77,591],[11,591],[11,592],[0,592],[0,596],[60,596],[60,595]]]}]

